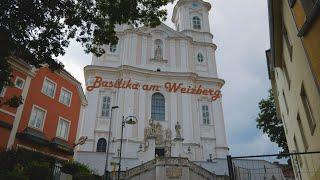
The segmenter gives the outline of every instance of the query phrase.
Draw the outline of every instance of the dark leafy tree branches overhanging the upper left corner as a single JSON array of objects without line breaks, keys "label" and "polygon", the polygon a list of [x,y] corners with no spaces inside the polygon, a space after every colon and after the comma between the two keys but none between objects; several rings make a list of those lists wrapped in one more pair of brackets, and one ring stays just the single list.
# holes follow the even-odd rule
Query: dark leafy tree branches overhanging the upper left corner
[{"label": "dark leafy tree branches overhanging the upper left corner", "polygon": [[71,39],[86,53],[101,56],[103,44],[116,44],[116,24],[157,26],[173,0],[1,0],[0,89],[12,85],[9,57],[34,67],[63,68],[57,57]]}]

